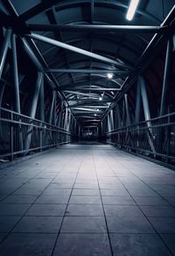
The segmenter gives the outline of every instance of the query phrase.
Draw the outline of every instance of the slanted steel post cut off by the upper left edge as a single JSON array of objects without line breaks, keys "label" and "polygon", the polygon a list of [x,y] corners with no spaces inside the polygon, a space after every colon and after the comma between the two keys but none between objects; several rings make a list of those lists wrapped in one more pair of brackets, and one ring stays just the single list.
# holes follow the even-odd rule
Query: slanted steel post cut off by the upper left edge
[{"label": "slanted steel post cut off by the upper left edge", "polygon": [[10,42],[11,42],[11,30],[9,29],[5,33],[4,43],[3,43],[1,53],[0,53],[0,78],[3,74],[5,58],[6,58],[6,55],[7,55],[7,51],[8,51],[8,47],[10,45]]}]

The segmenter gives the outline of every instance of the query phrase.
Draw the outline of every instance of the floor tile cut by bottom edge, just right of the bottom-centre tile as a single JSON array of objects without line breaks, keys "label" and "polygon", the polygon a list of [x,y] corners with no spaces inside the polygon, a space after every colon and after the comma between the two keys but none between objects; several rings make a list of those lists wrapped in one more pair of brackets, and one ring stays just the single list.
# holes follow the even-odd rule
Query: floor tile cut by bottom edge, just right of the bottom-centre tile
[{"label": "floor tile cut by bottom edge, just right of the bottom-centre tile", "polygon": [[155,234],[111,234],[114,256],[171,256]]}]

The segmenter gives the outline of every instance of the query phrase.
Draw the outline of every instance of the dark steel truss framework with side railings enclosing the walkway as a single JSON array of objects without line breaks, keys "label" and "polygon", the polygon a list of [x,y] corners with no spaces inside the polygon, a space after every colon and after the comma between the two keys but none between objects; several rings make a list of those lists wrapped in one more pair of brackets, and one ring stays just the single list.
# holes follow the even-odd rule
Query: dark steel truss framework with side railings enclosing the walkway
[{"label": "dark steel truss framework with side railings enclosing the walkway", "polygon": [[[175,7],[169,13],[160,26],[123,26],[123,25],[28,25],[25,21],[34,15],[51,8],[54,0],[43,1],[34,6],[31,10],[18,16],[11,4],[11,1],[3,0],[6,10],[10,15],[4,14],[6,18],[4,25],[4,43],[0,51],[0,78],[4,73],[5,60],[8,50],[11,48],[13,87],[15,102],[13,110],[5,110],[0,105],[0,157],[11,158],[14,155],[23,155],[31,151],[42,151],[45,148],[69,143],[81,135],[79,120],[87,118],[84,126],[95,128],[97,134],[103,141],[115,144],[123,149],[135,153],[144,153],[152,157],[161,157],[166,163],[175,162],[175,113],[167,114],[167,97],[172,68],[173,51],[173,28]],[[76,1],[77,2],[77,1]],[[104,1],[105,3],[107,1]],[[91,6],[91,18],[93,19],[93,6]],[[2,18],[0,18],[2,23]],[[17,25],[22,28],[22,33],[17,30]],[[91,50],[83,50],[79,47],[63,43],[59,39],[50,39],[33,31],[71,31],[71,32],[148,32],[155,33],[144,53],[140,56],[137,66],[130,67],[127,63],[93,53]],[[34,93],[29,107],[29,115],[22,113],[20,102],[20,82],[18,74],[18,52],[17,44],[19,39],[27,55],[31,58],[33,65],[38,69]],[[89,68],[49,68],[33,39],[45,42],[51,46],[59,46],[66,50],[92,59],[108,63],[109,69]],[[162,96],[159,108],[159,117],[151,118],[151,110],[147,95],[147,84],[144,81],[144,69],[154,60],[161,46],[167,42],[165,58],[165,74],[162,86]],[[91,60],[90,60],[91,61]],[[116,77],[125,78],[116,87],[104,87],[98,83],[92,85],[74,84],[61,86],[52,73],[80,73],[97,75],[100,77],[112,71]],[[90,77],[91,78],[91,77]],[[89,80],[91,81],[91,80]],[[52,89],[52,100],[49,105],[49,115],[45,116],[45,82]],[[130,104],[131,86],[137,84],[137,97],[135,109]],[[4,85],[5,86],[5,85]],[[88,92],[88,93],[87,93]],[[105,94],[105,97],[104,97]],[[4,96],[4,88],[0,89],[0,103]],[[89,98],[88,98],[89,96]],[[99,96],[102,102],[98,101]],[[57,110],[57,105],[60,105]],[[98,110],[99,109],[99,110]],[[141,121],[141,109],[144,113],[144,121]],[[39,118],[36,113],[39,110]],[[76,116],[76,118],[74,117]],[[84,127],[85,128],[85,127]],[[86,131],[86,129],[85,129]],[[4,136],[5,134],[5,136]]]}]

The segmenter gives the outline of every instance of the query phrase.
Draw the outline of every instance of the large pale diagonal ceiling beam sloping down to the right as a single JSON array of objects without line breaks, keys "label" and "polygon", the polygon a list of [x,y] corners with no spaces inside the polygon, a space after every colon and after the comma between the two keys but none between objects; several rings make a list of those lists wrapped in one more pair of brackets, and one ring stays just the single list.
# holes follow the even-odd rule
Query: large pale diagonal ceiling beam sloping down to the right
[{"label": "large pale diagonal ceiling beam sloping down to the right", "polygon": [[119,61],[112,60],[110,58],[107,58],[107,57],[102,56],[102,55],[97,54],[97,53],[91,53],[87,50],[83,50],[83,49],[81,49],[79,47],[76,47],[76,46],[70,46],[66,43],[62,43],[62,42],[60,42],[58,40],[55,40],[55,39],[50,39],[50,38],[47,38],[45,36],[42,36],[42,35],[39,35],[39,34],[36,34],[36,33],[27,34],[27,36],[31,39],[37,39],[39,41],[45,42],[45,43],[50,44],[52,46],[59,46],[59,47],[64,48],[66,50],[69,50],[69,51],[72,51],[72,52],[75,52],[75,53],[80,53],[80,54],[86,55],[88,57],[94,58],[96,60],[102,60],[104,62],[115,65],[117,68],[130,69],[129,65],[125,65],[125,64],[123,64]]}]

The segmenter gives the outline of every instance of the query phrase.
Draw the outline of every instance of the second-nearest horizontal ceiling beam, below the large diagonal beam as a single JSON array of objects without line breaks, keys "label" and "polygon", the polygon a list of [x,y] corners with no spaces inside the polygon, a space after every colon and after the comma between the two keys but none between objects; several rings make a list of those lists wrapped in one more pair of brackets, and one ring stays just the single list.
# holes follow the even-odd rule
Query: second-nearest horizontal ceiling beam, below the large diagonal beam
[{"label": "second-nearest horizontal ceiling beam, below the large diagonal beam", "polygon": [[127,70],[116,70],[116,69],[82,69],[82,68],[50,68],[45,69],[45,72],[52,73],[90,73],[90,74],[108,74],[112,73],[118,75],[130,75],[130,72]]}]

